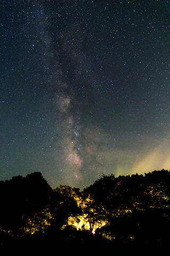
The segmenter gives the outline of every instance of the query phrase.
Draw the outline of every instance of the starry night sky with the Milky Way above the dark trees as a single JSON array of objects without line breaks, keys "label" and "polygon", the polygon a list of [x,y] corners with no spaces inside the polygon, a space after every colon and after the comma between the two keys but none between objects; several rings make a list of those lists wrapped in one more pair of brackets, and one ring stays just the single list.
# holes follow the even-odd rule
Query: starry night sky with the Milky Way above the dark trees
[{"label": "starry night sky with the Milky Way above the dark trees", "polygon": [[170,169],[170,3],[0,3],[0,179]]}]

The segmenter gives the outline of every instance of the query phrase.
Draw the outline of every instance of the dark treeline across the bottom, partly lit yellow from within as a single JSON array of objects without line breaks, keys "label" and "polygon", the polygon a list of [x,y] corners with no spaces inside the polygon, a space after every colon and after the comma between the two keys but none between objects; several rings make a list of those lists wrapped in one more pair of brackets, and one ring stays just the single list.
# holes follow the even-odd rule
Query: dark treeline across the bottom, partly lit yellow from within
[{"label": "dark treeline across the bottom, partly lit yellow from within", "polygon": [[0,249],[36,245],[163,248],[169,242],[170,172],[101,175],[52,189],[40,172],[0,182]]}]

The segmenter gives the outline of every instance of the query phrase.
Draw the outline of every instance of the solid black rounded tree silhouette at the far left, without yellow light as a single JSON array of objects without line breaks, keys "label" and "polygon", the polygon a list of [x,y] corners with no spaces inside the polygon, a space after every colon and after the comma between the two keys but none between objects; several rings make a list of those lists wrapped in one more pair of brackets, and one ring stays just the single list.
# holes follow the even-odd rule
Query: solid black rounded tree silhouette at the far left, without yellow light
[{"label": "solid black rounded tree silhouette at the far left, without yellow light", "polygon": [[13,235],[23,233],[23,227],[35,211],[47,204],[48,194],[52,191],[40,172],[27,177],[13,177],[1,182],[0,225]]}]

